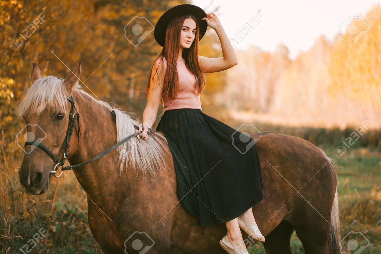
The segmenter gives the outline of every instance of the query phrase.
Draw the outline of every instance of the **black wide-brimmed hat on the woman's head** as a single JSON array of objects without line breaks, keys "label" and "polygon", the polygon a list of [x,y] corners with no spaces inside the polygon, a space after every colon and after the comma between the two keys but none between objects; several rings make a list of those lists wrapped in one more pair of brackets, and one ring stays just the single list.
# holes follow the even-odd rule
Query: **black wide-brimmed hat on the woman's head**
[{"label": "black wide-brimmed hat on the woman's head", "polygon": [[190,4],[176,5],[163,13],[156,23],[154,36],[160,46],[164,46],[165,32],[169,22],[179,14],[192,14],[196,17],[197,22],[199,23],[199,31],[197,31],[199,33],[199,40],[201,40],[207,31],[208,23],[206,20],[202,19],[207,17],[204,10],[202,10],[199,6]]}]

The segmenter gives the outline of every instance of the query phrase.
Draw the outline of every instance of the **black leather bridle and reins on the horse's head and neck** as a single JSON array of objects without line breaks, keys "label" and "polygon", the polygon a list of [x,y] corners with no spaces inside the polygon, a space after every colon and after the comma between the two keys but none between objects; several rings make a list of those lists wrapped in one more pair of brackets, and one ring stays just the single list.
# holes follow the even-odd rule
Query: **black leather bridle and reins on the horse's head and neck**
[{"label": "black leather bridle and reins on the horse's head and neck", "polygon": [[[45,145],[43,145],[41,143],[38,143],[36,145],[35,144],[36,142],[34,142],[34,141],[26,141],[25,144],[24,144],[24,147],[26,147],[26,145],[34,145],[36,147],[39,147],[41,150],[43,150],[45,153],[47,153],[53,159],[55,166],[54,166],[54,169],[50,172],[50,174],[53,174],[53,176],[55,176],[55,177],[60,177],[64,170],[77,169],[80,166],[86,165],[87,163],[90,163],[91,161],[94,161],[94,160],[97,160],[98,158],[101,158],[103,155],[111,152],[112,150],[117,148],[119,145],[121,145],[124,142],[130,140],[132,137],[141,134],[144,131],[144,129],[143,129],[142,131],[139,131],[139,132],[131,134],[130,136],[126,137],[122,141],[118,142],[117,144],[115,144],[112,147],[110,147],[109,149],[107,149],[106,151],[100,153],[99,155],[97,155],[94,158],[91,158],[90,160],[87,160],[87,161],[79,163],[79,164],[75,164],[75,165],[70,165],[70,166],[64,167],[63,165],[65,163],[65,160],[67,159],[67,152],[69,151],[69,147],[70,147],[69,142],[70,142],[71,136],[73,135],[73,129],[74,129],[74,125],[75,125],[75,121],[76,120],[77,120],[77,126],[78,126],[77,127],[78,128],[78,132],[77,132],[77,134],[78,134],[78,142],[79,142],[79,136],[81,135],[80,125],[79,125],[79,112],[75,108],[73,95],[70,95],[70,97],[68,96],[67,100],[70,101],[70,104],[71,104],[70,114],[69,114],[69,125],[67,126],[66,136],[65,136],[64,142],[62,142],[62,145],[61,145],[61,148],[58,151],[58,154],[55,155],[51,150],[49,150]],[[134,123],[132,123],[132,125],[134,126],[135,129],[139,129],[139,126],[135,125]],[[150,132],[152,131],[152,128],[148,128],[148,131],[149,132],[147,134],[150,135]],[[65,149],[64,150],[64,154],[62,155],[61,160],[59,160],[58,159],[58,155],[61,153],[62,149]],[[58,165],[62,166],[62,168],[61,168],[61,174],[59,174],[59,176],[56,176],[56,168],[57,168]]]}]

